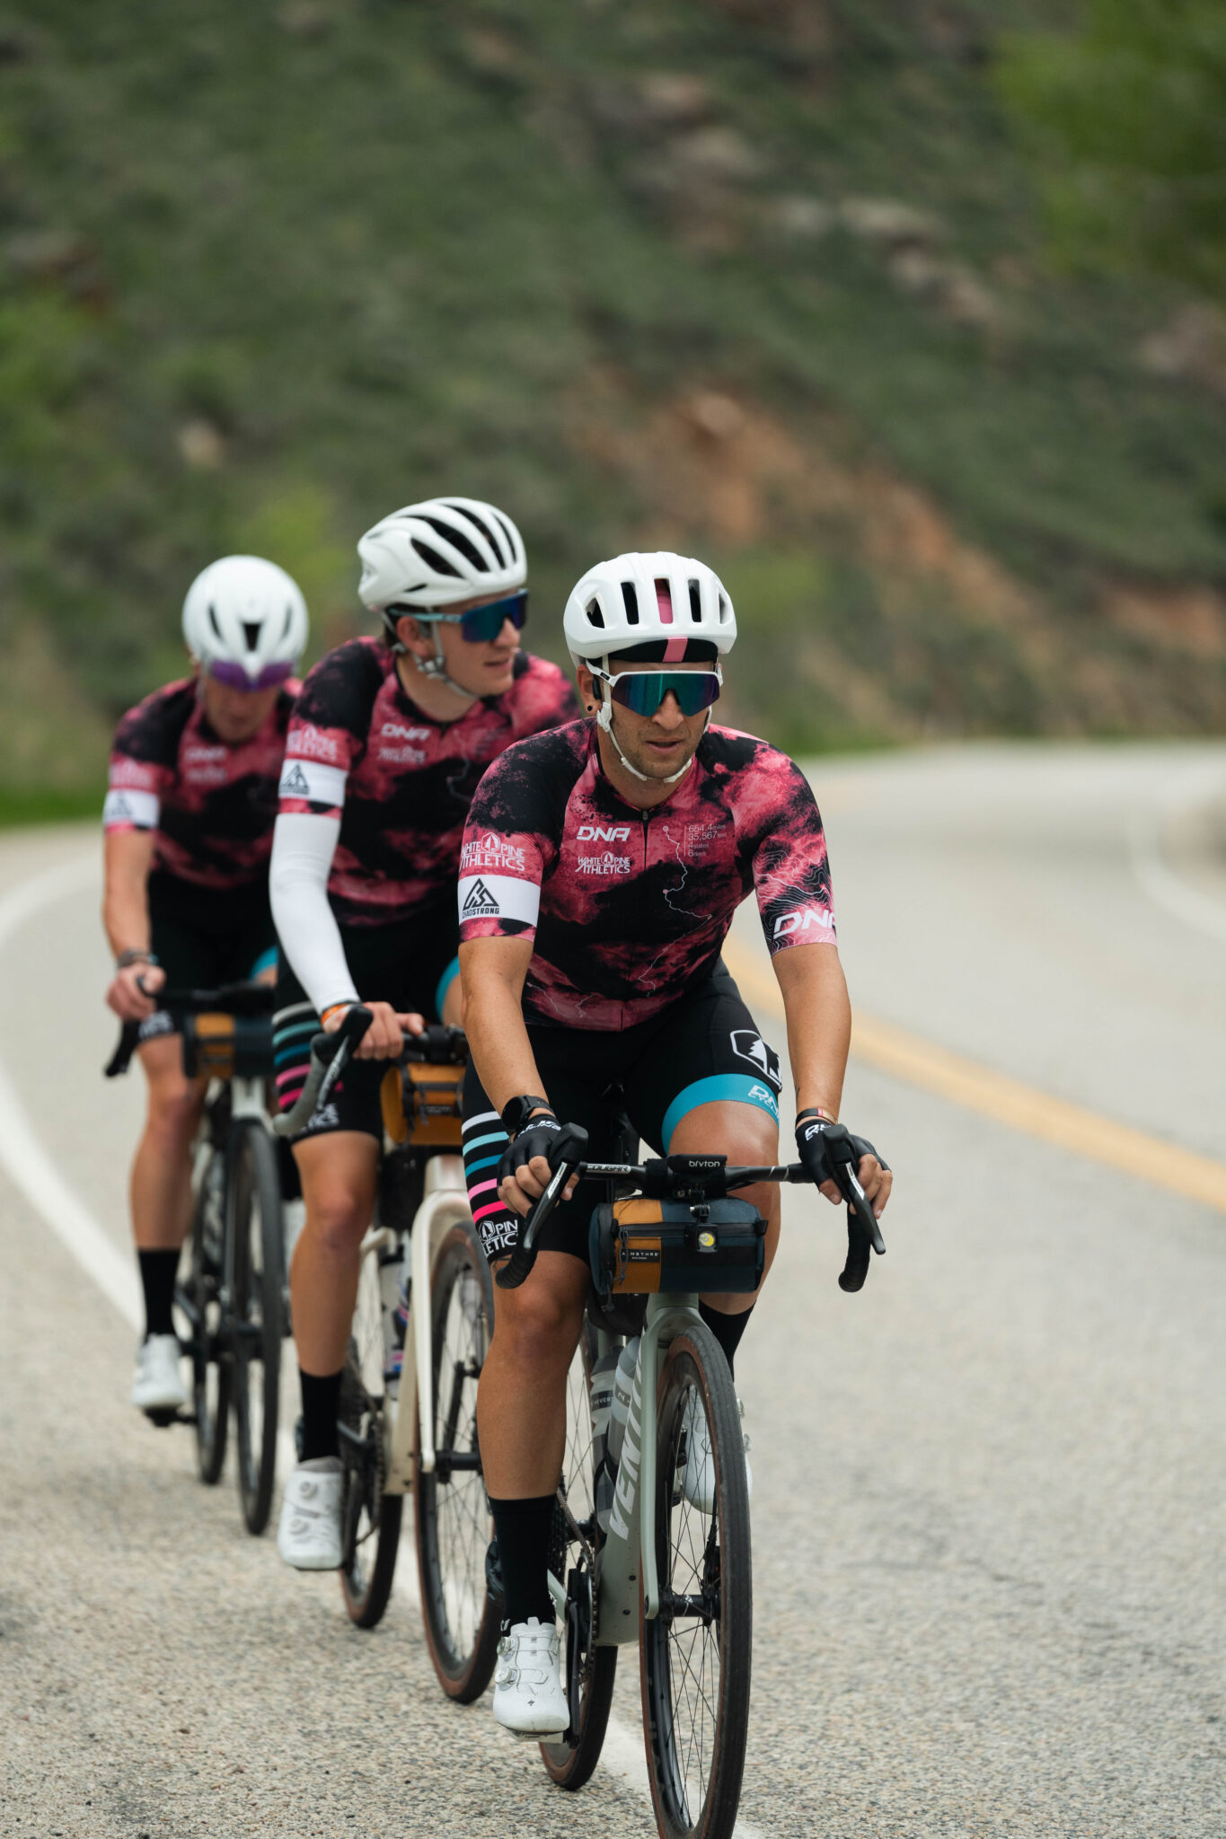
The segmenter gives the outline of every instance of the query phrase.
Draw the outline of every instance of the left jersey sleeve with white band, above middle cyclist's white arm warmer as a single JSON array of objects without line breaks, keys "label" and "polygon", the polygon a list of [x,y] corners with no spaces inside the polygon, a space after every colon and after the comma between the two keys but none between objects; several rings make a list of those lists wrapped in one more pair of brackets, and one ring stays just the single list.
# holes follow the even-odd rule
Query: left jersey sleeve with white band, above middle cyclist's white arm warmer
[{"label": "left jersey sleeve with white band, above middle cyclist's white arm warmer", "polygon": [[340,817],[380,680],[379,660],[362,640],[340,645],[307,673],[285,737],[279,813]]}]

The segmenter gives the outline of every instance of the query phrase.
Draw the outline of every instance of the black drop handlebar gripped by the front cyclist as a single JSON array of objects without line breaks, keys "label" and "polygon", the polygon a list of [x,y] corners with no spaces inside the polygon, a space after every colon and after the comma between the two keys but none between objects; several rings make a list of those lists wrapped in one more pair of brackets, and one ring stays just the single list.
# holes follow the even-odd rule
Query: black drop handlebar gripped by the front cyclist
[{"label": "black drop handlebar gripped by the front cyclist", "polygon": [[[693,1188],[695,1173],[691,1170],[671,1168],[667,1160],[585,1162],[583,1151],[586,1146],[588,1133],[581,1131],[577,1124],[566,1124],[557,1133],[550,1149],[550,1168],[553,1170],[553,1175],[548,1188],[524,1221],[520,1243],[515,1247],[505,1265],[494,1273],[494,1282],[500,1289],[518,1289],[529,1276],[537,1262],[537,1239],[540,1238],[540,1228],[559,1205],[562,1190],[572,1175],[577,1175],[581,1181],[590,1177],[605,1181],[632,1181],[656,1199],[664,1199],[669,1194],[682,1199],[686,1188]],[[766,1164],[761,1168],[728,1168],[724,1164],[719,1170],[713,1170],[711,1177],[713,1179],[709,1179],[704,1188],[708,1199],[715,1197],[719,1192],[728,1194],[732,1188],[748,1188],[763,1181],[789,1182],[792,1186],[812,1182],[812,1175],[803,1162]],[[849,1160],[836,1166],[834,1179],[842,1190],[844,1201],[847,1203],[847,1262],[838,1278],[838,1287],[844,1291],[857,1291],[864,1285],[869,1252],[877,1252],[880,1258],[886,1251],[886,1241],[880,1236],[877,1214],[873,1212],[873,1206],[860,1186],[857,1170]]]}]

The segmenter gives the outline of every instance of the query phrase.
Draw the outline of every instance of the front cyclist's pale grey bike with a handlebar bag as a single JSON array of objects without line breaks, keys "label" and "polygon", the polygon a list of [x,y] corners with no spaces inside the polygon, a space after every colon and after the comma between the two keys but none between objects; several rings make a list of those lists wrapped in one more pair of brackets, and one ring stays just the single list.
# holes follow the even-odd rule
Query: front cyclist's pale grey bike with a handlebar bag
[{"label": "front cyclist's pale grey bike with a handlebar bag", "polygon": [[[585,1162],[585,1149],[581,1129],[559,1133],[553,1177],[496,1276],[507,1289],[526,1280],[572,1175],[607,1182],[590,1225],[592,1298],[568,1381],[550,1556],[570,1727],[540,1756],[561,1788],[583,1788],[618,1648],[638,1640],[662,1839],[730,1839],[750,1710],[750,1504],[737,1396],[698,1296],[761,1282],[766,1227],[735,1190],[811,1175],[801,1164],[730,1168],[719,1155]],[[840,1285],[860,1289],[869,1251],[886,1247],[851,1162],[838,1184],[849,1234]]]}]

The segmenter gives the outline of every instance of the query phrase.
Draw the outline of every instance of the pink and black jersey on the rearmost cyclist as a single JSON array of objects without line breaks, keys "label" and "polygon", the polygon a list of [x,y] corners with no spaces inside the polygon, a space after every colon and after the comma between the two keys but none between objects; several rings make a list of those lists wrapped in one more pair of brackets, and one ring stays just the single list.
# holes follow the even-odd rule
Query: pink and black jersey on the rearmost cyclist
[{"label": "pink and black jersey on the rearmost cyclist", "polygon": [[228,745],[187,677],[131,708],[110,754],[103,828],[153,831],[153,866],[199,888],[263,885],[296,682],[250,741]]}]

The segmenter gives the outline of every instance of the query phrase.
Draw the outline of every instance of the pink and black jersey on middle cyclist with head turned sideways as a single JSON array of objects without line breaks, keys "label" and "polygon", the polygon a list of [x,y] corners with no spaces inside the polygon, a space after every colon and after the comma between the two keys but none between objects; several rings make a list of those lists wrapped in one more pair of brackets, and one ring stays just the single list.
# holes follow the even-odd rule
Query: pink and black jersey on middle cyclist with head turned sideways
[{"label": "pink and black jersey on middle cyclist with head turned sideways", "polygon": [[452,899],[460,840],[485,767],[511,741],[575,714],[557,664],[526,651],[502,695],[436,721],[404,693],[380,638],[322,658],[298,697],[281,811],[338,817],[327,894],[342,927],[388,925]]}]

